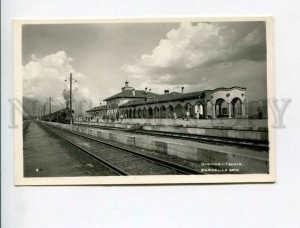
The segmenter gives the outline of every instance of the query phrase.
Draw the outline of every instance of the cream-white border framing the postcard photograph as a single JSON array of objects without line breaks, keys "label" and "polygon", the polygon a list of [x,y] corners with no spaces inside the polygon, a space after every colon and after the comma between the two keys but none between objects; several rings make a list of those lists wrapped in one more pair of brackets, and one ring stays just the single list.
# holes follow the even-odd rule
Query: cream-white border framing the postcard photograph
[{"label": "cream-white border framing the postcard photograph", "polygon": [[[275,97],[273,18],[260,17],[177,17],[177,18],[122,18],[122,19],[63,19],[63,20],[15,20],[14,21],[14,99],[22,103],[22,25],[23,24],[83,24],[83,23],[159,23],[159,22],[225,22],[265,21],[267,37],[267,87],[268,99]],[[22,105],[21,105],[22,106]],[[22,114],[15,112],[14,165],[15,185],[148,185],[195,183],[258,183],[275,182],[275,123],[273,110],[268,104],[269,174],[211,174],[211,175],[157,175],[117,177],[24,177]]]}]

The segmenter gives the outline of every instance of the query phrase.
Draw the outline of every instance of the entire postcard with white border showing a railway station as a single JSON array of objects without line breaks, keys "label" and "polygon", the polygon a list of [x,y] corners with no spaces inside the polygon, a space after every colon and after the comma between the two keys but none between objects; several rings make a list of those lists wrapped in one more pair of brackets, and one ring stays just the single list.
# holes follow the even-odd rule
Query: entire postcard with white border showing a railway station
[{"label": "entire postcard with white border showing a railway station", "polygon": [[275,181],[272,18],[14,32],[17,185]]}]

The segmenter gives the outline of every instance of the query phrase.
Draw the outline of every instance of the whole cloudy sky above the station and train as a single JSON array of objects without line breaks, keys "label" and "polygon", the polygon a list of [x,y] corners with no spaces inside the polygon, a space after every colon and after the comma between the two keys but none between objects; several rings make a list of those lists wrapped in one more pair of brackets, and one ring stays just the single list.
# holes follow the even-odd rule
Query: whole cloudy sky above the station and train
[{"label": "whole cloudy sky above the station and train", "polygon": [[94,105],[120,91],[186,92],[247,87],[266,98],[263,22],[23,26],[24,96],[63,98],[70,72],[77,97]]}]

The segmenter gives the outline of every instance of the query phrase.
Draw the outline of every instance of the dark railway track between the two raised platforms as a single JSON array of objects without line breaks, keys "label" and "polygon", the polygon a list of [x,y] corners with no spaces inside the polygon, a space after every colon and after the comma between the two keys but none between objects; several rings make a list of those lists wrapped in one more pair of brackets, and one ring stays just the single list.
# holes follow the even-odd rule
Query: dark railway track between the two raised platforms
[{"label": "dark railway track between the two raised platforms", "polygon": [[207,144],[214,145],[230,145],[242,148],[251,148],[255,150],[268,150],[269,143],[256,141],[256,140],[243,140],[243,139],[235,139],[235,138],[225,138],[225,137],[216,137],[216,136],[206,136],[206,135],[196,135],[196,134],[184,134],[184,133],[175,133],[175,132],[165,132],[165,131],[148,131],[142,129],[136,129],[130,131],[128,129],[122,129],[117,127],[108,127],[108,126],[97,126],[97,125],[84,125],[78,124],[79,126],[91,127],[91,128],[99,128],[106,130],[120,130],[126,131],[128,133],[136,133],[141,135],[150,135],[150,136],[158,136],[158,137],[166,137],[166,138],[175,138],[182,140],[190,140]]}]

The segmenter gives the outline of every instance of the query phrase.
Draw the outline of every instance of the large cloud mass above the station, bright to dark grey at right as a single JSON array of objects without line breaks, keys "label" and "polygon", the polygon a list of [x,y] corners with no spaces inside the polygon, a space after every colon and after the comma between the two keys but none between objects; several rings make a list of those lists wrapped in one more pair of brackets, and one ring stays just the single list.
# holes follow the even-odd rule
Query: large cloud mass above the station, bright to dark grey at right
[{"label": "large cloud mass above the station, bright to dark grey at right", "polygon": [[181,23],[122,70],[157,88],[185,84],[192,90],[265,80],[265,61],[264,22]]}]

